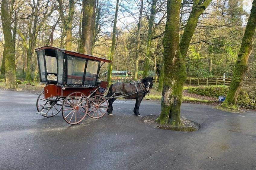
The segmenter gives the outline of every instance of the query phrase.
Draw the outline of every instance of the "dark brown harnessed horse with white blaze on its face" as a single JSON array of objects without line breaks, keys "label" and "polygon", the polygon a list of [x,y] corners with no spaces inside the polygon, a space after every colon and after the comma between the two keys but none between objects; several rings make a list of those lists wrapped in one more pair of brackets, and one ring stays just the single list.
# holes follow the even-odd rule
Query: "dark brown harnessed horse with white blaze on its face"
[{"label": "dark brown harnessed horse with white blaze on its face", "polygon": [[123,97],[125,99],[136,99],[136,104],[133,109],[133,112],[136,116],[140,116],[139,114],[139,106],[143,99],[143,97],[149,92],[150,88],[153,86],[153,77],[146,77],[138,82],[132,82],[130,84],[117,82],[113,85],[110,85],[109,92],[107,93],[107,97],[110,97],[108,100],[108,114],[112,115],[113,111],[113,102],[117,97]]}]

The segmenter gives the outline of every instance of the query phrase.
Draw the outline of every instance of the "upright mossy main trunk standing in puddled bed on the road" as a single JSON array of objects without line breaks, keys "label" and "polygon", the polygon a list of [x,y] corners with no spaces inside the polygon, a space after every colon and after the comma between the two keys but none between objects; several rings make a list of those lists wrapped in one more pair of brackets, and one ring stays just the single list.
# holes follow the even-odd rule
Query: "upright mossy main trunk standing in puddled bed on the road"
[{"label": "upright mossy main trunk standing in puddled bed on the road", "polygon": [[186,80],[185,62],[179,48],[179,18],[181,0],[167,1],[167,22],[163,39],[164,81],[162,91],[162,110],[157,119],[159,123],[182,125],[180,119],[181,97]]}]

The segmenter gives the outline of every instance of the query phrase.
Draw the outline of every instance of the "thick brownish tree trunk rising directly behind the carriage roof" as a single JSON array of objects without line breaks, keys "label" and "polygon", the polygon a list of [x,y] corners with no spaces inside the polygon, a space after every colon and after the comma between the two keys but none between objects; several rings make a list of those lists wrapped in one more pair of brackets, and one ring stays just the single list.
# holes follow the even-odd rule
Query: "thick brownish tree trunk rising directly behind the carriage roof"
[{"label": "thick brownish tree trunk rising directly behind the carriage roof", "polygon": [[82,33],[78,52],[92,54],[93,36],[95,29],[95,0],[83,0]]}]

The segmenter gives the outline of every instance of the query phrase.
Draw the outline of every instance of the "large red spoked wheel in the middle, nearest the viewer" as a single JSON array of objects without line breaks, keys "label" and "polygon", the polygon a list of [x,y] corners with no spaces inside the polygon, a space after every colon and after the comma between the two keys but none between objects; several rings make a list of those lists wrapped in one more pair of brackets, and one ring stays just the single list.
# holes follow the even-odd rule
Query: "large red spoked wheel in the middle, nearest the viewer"
[{"label": "large red spoked wheel in the middle, nearest the viewer", "polygon": [[81,122],[88,111],[88,100],[85,94],[73,92],[63,101],[62,116],[64,120],[75,125]]}]

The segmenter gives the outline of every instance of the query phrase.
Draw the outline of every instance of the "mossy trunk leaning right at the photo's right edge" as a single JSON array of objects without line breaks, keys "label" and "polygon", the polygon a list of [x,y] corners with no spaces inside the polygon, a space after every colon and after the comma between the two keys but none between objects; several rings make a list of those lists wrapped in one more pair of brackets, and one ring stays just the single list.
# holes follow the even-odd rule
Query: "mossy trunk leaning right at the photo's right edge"
[{"label": "mossy trunk leaning right at the photo's right edge", "polygon": [[236,100],[242,87],[245,72],[248,69],[247,61],[251,54],[253,46],[253,37],[256,29],[256,0],[252,2],[251,14],[245,28],[242,44],[235,63],[235,70],[229,87],[226,100],[222,103],[222,107],[238,109]]}]

